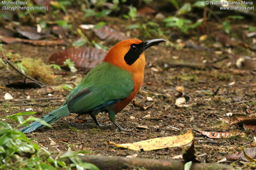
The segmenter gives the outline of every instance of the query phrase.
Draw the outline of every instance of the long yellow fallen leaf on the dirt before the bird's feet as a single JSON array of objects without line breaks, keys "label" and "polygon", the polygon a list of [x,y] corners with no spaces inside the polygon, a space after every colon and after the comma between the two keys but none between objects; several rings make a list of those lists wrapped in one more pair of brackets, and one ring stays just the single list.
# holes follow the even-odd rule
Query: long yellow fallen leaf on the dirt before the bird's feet
[{"label": "long yellow fallen leaf on the dirt before the bird's feet", "polygon": [[185,144],[190,143],[193,140],[193,138],[193,133],[191,129],[189,129],[189,131],[183,135],[172,137],[158,137],[154,139],[135,142],[132,144],[115,144],[113,142],[110,142],[109,140],[107,140],[107,142],[110,145],[114,145],[120,148],[127,148],[135,151],[151,151],[157,149],[172,148],[176,146],[183,146]]}]

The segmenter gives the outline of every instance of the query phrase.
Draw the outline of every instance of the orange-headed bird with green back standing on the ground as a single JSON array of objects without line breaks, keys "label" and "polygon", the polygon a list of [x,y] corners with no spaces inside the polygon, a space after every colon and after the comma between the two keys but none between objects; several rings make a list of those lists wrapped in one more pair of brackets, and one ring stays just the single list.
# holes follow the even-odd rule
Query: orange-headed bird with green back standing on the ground
[{"label": "orange-headed bird with green back standing on the ground", "polygon": [[[118,42],[108,51],[102,63],[90,70],[70,92],[63,105],[44,115],[41,120],[48,124],[58,121],[71,113],[90,115],[97,126],[101,125],[96,115],[108,114],[109,120],[121,131],[116,114],[127,106],[139,92],[144,78],[144,50],[165,42],[164,39],[141,41],[129,39]],[[20,131],[30,133],[44,125],[38,121]]]}]

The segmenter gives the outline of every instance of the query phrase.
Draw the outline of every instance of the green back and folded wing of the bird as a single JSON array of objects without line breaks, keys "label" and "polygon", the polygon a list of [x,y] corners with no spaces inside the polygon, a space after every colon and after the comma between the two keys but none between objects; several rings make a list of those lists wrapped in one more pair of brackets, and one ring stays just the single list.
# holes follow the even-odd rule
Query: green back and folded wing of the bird
[{"label": "green back and folded wing of the bird", "polygon": [[128,97],[133,86],[130,72],[102,62],[86,74],[64,104],[71,113],[83,113]]}]

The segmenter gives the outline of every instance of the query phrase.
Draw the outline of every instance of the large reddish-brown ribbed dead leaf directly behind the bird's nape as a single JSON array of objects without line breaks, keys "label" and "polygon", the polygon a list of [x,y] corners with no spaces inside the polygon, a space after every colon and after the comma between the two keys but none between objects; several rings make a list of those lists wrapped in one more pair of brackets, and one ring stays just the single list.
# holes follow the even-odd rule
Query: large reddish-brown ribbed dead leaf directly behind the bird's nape
[{"label": "large reddish-brown ribbed dead leaf directly behind the bird's nape", "polygon": [[[75,62],[75,67],[82,70],[91,70],[97,64],[101,63],[106,56],[107,51],[98,48],[68,48],[63,51],[52,54],[49,62],[62,65],[68,58]],[[68,66],[64,69],[68,69]]]}]

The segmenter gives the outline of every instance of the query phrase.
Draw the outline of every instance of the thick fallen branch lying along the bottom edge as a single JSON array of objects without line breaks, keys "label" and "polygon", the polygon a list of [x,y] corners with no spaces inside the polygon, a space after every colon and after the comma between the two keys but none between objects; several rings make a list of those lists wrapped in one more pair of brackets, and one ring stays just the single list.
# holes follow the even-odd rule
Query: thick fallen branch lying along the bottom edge
[{"label": "thick fallen branch lying along the bottom edge", "polygon": [[[57,155],[52,155],[55,159]],[[164,160],[164,159],[142,159],[142,158],[126,158],[121,156],[96,156],[96,155],[80,155],[83,162],[88,162],[96,165],[101,170],[121,170],[134,169],[136,167],[144,167],[148,170],[180,170],[184,169],[185,162],[180,160]],[[68,158],[60,159],[66,164],[73,163]],[[193,163],[193,170],[214,170],[214,169],[234,169],[233,166],[217,163]]]}]

